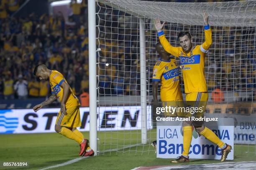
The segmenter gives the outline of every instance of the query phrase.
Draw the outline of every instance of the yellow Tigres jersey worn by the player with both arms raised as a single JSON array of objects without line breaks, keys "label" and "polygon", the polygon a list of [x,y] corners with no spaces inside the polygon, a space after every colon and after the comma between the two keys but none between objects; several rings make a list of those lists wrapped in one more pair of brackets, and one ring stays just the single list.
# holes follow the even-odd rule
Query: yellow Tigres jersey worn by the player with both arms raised
[{"label": "yellow Tigres jersey worn by the player with both arms raised", "polygon": [[185,93],[207,92],[204,69],[205,53],[208,52],[212,44],[212,31],[210,26],[205,26],[205,42],[202,45],[195,46],[189,53],[184,52],[182,47],[173,47],[170,45],[164,36],[164,32],[159,32],[158,34],[164,50],[180,59]]}]

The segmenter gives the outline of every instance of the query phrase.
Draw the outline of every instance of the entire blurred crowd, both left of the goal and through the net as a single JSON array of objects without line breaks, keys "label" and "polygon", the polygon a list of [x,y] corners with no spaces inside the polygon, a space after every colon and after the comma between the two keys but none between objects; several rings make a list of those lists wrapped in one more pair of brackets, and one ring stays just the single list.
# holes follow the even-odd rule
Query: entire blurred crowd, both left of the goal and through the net
[{"label": "entire blurred crowd, both left of the goal and through the net", "polygon": [[[139,20],[99,5],[96,10],[98,94],[140,95]],[[8,6],[1,7],[3,11]],[[70,7],[72,15],[67,20],[61,12],[12,18],[6,10],[6,17],[0,20],[0,99],[49,95],[48,82],[39,82],[33,76],[37,64],[63,73],[77,95],[88,90],[87,0],[81,4],[72,0]],[[159,58],[154,49],[158,39],[151,20],[146,20],[145,28],[147,88],[151,95],[152,69]],[[175,46],[179,46],[176,37],[181,30],[190,31],[196,45],[204,40],[200,26],[167,23],[165,28],[167,38]],[[242,92],[256,87],[254,36],[255,28],[212,27],[215,38],[205,59],[209,91]]]}]

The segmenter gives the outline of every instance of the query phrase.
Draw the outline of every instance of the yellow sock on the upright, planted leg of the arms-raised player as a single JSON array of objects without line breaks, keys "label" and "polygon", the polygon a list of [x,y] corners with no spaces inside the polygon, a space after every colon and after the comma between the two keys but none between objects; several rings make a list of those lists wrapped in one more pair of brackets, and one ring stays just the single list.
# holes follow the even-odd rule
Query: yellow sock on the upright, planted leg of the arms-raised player
[{"label": "yellow sock on the upright, planted leg of the arms-raised player", "polygon": [[184,126],[183,128],[183,152],[182,155],[188,158],[189,148],[192,140],[192,126]]}]

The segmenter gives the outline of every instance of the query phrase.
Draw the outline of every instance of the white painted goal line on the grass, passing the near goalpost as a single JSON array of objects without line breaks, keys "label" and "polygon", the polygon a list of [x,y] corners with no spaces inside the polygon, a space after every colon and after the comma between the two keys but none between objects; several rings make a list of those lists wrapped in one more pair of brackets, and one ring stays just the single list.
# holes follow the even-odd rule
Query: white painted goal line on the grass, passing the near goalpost
[{"label": "white painted goal line on the grass, passing the near goalpost", "polygon": [[[102,153],[107,153],[107,152],[122,150],[122,149],[126,149],[126,148],[135,147],[135,146],[138,146],[138,145],[141,145],[141,144],[129,145],[129,146],[125,146],[125,147],[123,147],[123,148],[109,149],[109,150],[105,150],[105,151],[102,152]],[[51,169],[51,168],[57,168],[57,167],[69,165],[69,164],[76,163],[76,162],[78,162],[79,160],[82,160],[82,159],[88,158],[88,157],[89,157],[89,156],[87,156],[87,157],[75,158],[75,159],[69,160],[69,161],[67,161],[67,162],[65,162],[65,163],[61,163],[61,164],[57,164],[57,165],[52,165],[52,166],[49,166],[49,167],[46,167],[46,168],[43,168],[43,169],[40,169],[40,170],[48,170],[48,169]]]}]

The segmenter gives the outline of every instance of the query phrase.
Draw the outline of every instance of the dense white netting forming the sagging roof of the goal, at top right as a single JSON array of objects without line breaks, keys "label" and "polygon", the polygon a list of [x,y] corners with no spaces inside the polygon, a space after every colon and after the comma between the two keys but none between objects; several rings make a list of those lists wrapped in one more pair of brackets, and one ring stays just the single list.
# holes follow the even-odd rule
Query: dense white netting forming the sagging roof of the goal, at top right
[{"label": "dense white netting forming the sagging roof of the goal, at top right", "polygon": [[255,0],[202,3],[139,0],[99,0],[99,2],[104,2],[106,5],[130,15],[145,18],[158,17],[170,23],[202,25],[202,10],[206,10],[210,16],[209,23],[212,26],[256,26]]}]

